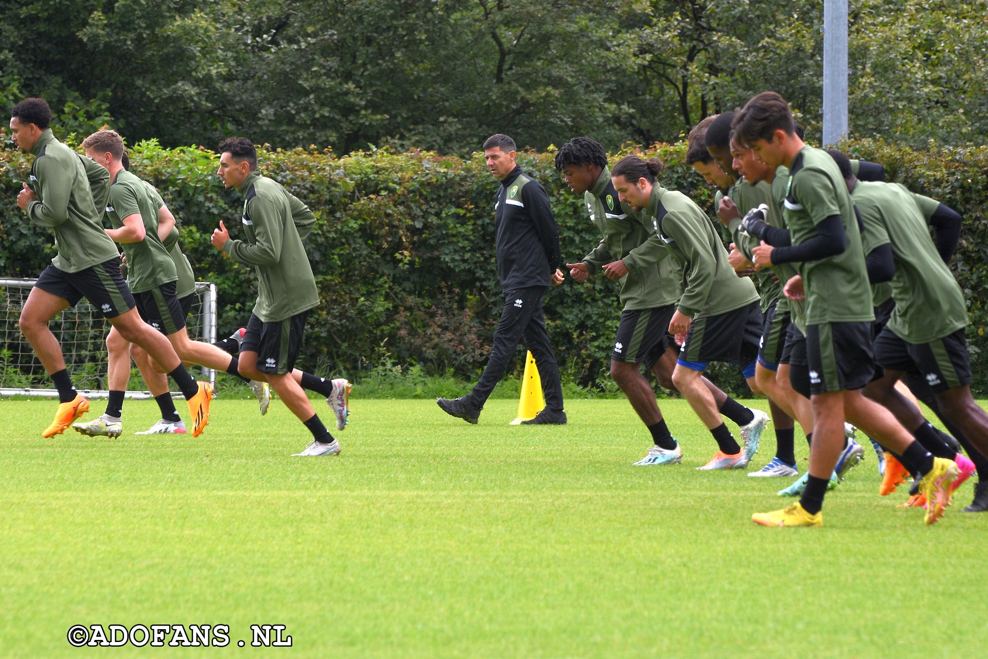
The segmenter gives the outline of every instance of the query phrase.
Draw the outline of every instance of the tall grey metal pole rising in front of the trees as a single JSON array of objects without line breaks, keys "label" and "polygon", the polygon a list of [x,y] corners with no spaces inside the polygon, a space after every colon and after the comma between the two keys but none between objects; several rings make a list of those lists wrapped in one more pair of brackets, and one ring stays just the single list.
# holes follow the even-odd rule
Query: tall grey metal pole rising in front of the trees
[{"label": "tall grey metal pole rising in front of the trees", "polygon": [[823,3],[823,143],[848,135],[848,0]]}]

